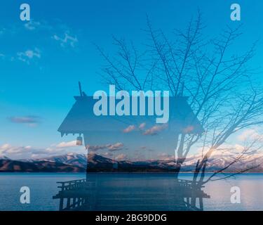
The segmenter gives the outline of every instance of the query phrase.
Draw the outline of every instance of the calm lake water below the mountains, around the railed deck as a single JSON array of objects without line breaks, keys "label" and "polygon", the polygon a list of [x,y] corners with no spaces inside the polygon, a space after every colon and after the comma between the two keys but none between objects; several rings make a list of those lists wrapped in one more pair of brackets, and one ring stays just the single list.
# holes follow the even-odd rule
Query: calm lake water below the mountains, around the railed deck
[{"label": "calm lake water below the mountains, around the railed deck", "polygon": [[[182,174],[180,179],[191,179],[191,176],[192,174]],[[172,203],[171,196],[178,194],[173,193],[175,180],[173,174],[89,174],[89,177],[90,181],[96,183],[96,196],[107,195],[107,191],[112,191],[105,197],[107,201],[103,203],[104,206],[106,205],[106,210],[111,207],[111,199],[119,198],[119,207],[126,205],[126,201],[119,197],[123,191],[130,193],[133,202],[137,199],[137,193],[147,191],[147,194],[154,195],[156,198],[154,203],[158,205],[160,205],[158,199],[162,203]],[[85,178],[86,174],[1,173],[0,210],[58,210],[59,200],[52,198],[59,190],[56,182]],[[30,188],[30,204],[20,203],[21,186]],[[241,190],[240,204],[232,204],[230,201],[232,194],[230,189],[233,186],[238,186]],[[203,200],[204,210],[263,210],[263,174],[240,174],[234,179],[209,182],[203,191],[210,195],[210,198]],[[140,196],[140,201],[147,204],[147,200],[143,200],[144,195]],[[151,210],[151,206],[145,207],[145,210]],[[164,207],[163,210],[173,210],[173,208]]]}]

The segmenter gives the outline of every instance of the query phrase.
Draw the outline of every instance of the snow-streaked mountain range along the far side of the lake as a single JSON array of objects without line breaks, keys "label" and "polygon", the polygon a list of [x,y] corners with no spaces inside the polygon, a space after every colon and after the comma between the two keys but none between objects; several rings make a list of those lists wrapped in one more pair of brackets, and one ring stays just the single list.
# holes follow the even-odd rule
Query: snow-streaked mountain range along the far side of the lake
[{"label": "snow-streaked mountain range along the far side of the lake", "polygon": [[[224,158],[210,158],[207,172],[217,171],[233,162],[234,156],[227,155]],[[11,160],[7,157],[0,158],[0,172],[86,172],[87,156],[84,154],[69,153],[66,155],[52,156],[41,159]],[[236,172],[240,169],[256,166],[250,172],[263,172],[263,158],[251,160],[247,158],[242,162],[231,165],[226,172]],[[196,166],[196,158],[189,157],[184,162],[182,172],[193,172]],[[173,172],[175,162],[165,160],[116,161],[105,158],[102,155],[88,155],[88,172]]]}]

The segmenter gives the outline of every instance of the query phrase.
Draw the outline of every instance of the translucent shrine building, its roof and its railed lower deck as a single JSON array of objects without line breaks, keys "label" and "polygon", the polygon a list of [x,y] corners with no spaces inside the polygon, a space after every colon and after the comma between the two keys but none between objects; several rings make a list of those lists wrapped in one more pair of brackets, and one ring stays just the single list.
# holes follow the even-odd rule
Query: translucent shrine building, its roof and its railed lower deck
[{"label": "translucent shrine building, its roof and its railed lower deck", "polygon": [[[80,96],[74,97],[76,102],[58,131],[61,136],[79,134],[76,141],[79,145],[83,144],[83,136],[87,150],[90,145],[97,145],[98,137],[104,144],[109,141],[139,142],[144,135],[142,130],[137,129],[133,134],[123,132],[129,125],[163,126],[156,124],[156,115],[97,117],[93,113],[95,100],[92,96],[86,96],[79,87]],[[148,101],[146,99],[145,103]],[[159,135],[144,135],[145,146],[163,143],[166,149],[173,151],[180,140],[184,141],[186,134],[203,133],[203,127],[188,105],[187,97],[170,97],[169,102],[170,120],[165,130]],[[203,210],[203,198],[210,197],[201,190],[201,185],[177,178],[171,182],[173,184],[168,185],[147,177],[142,182],[140,178],[129,175],[122,179],[116,176],[116,179],[109,181],[97,174],[96,179],[90,179],[87,164],[86,179],[58,182],[60,191],[53,198],[60,200],[59,210]]]}]

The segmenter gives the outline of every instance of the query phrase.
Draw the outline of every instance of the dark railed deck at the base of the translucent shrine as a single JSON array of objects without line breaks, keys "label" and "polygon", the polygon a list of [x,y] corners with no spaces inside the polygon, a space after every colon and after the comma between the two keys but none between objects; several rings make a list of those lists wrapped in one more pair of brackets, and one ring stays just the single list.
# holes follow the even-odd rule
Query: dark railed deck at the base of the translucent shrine
[{"label": "dark railed deck at the base of the translucent shrine", "polygon": [[203,210],[210,198],[198,183],[137,174],[97,174],[86,179],[62,181],[53,198],[60,210]]}]

